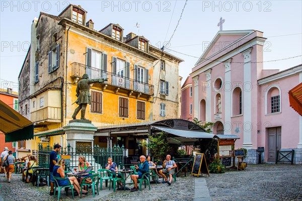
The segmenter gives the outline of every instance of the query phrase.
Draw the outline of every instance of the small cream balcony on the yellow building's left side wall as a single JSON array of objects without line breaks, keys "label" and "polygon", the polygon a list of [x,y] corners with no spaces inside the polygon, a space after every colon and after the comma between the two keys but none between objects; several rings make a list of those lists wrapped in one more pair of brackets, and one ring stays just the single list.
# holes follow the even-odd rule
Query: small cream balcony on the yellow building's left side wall
[{"label": "small cream balcony on the yellow building's left side wall", "polygon": [[61,122],[61,108],[45,107],[30,114],[31,121],[35,123],[40,122]]}]

